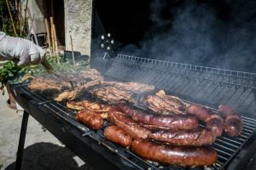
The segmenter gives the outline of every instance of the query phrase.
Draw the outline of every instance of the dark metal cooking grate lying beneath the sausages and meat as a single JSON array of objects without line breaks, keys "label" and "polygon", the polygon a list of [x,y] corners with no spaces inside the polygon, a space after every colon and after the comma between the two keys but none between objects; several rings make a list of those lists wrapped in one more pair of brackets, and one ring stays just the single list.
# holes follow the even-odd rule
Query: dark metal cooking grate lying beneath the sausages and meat
[{"label": "dark metal cooking grate lying beneath the sausages and meat", "polygon": [[[108,140],[105,140],[103,137],[103,130],[93,131],[83,124],[77,122],[75,120],[76,111],[68,109],[64,102],[56,103],[53,100],[46,99],[42,94],[33,93],[26,88],[26,84],[15,85],[13,88],[20,94],[29,96],[32,100],[36,101],[38,105],[44,105],[44,107],[53,116],[61,119],[64,122],[68,122],[74,128],[79,129],[81,136],[86,136],[95,140],[96,143],[102,144],[103,147],[108,148],[111,153],[115,153],[117,156],[122,157],[126,161],[125,164],[131,164],[133,167],[137,167],[137,169],[180,169],[180,167],[176,166],[164,166],[152,161],[143,160],[130,150],[125,150],[119,145],[112,144]],[[214,109],[212,110],[214,111]],[[218,152],[218,162],[212,167],[207,167],[207,169],[223,169],[224,166],[232,159],[232,157],[236,156],[236,153],[241,149],[242,145],[251,138],[256,130],[256,120],[247,116],[242,116],[242,118],[245,124],[241,135],[236,138],[230,138],[223,135],[218,137],[212,144],[213,148]],[[105,121],[104,127],[107,127],[108,123],[109,122]]]}]

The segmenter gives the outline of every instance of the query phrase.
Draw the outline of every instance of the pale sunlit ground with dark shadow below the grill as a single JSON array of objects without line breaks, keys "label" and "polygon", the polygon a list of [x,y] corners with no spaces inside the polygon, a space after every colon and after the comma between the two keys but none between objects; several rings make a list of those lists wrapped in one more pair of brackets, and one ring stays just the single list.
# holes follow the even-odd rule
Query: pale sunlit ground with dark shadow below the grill
[{"label": "pale sunlit ground with dark shadow below the grill", "polygon": [[[0,96],[0,169],[15,169],[22,116],[6,105],[8,95]],[[29,116],[21,169],[88,169],[78,156]]]}]

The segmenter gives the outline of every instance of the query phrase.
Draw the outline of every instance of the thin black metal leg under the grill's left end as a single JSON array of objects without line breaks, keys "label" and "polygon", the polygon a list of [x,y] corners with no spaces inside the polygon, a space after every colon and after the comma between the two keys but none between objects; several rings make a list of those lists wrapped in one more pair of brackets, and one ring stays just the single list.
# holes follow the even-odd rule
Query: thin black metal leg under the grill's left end
[{"label": "thin black metal leg under the grill's left end", "polygon": [[28,116],[29,116],[29,114],[26,111],[24,111],[23,117],[22,117],[22,122],[21,122],[20,140],[19,140],[19,145],[18,145],[15,170],[20,170],[20,168],[21,168],[25,138],[26,138],[26,127],[27,127]]}]

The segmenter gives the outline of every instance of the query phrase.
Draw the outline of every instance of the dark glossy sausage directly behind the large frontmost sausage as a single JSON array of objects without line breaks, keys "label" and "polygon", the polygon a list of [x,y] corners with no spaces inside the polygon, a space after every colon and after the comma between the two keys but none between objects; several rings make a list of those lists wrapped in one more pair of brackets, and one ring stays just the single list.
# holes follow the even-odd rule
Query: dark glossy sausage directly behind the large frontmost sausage
[{"label": "dark glossy sausage directly behind the large frontmost sausage", "polygon": [[172,129],[158,131],[152,133],[150,138],[175,145],[201,146],[212,144],[216,139],[216,136],[211,129],[198,127],[186,130]]}]

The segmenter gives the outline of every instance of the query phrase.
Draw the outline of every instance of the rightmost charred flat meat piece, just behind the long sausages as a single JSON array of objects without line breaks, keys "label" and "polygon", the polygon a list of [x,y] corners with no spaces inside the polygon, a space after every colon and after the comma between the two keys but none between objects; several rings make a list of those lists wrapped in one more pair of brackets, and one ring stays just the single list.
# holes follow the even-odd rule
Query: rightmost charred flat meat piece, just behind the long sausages
[{"label": "rightmost charred flat meat piece, just behind the long sausages", "polygon": [[148,109],[161,115],[186,114],[186,104],[177,97],[166,95],[163,90],[155,95],[143,97],[142,102]]}]

